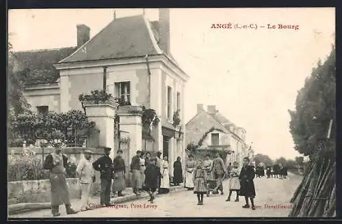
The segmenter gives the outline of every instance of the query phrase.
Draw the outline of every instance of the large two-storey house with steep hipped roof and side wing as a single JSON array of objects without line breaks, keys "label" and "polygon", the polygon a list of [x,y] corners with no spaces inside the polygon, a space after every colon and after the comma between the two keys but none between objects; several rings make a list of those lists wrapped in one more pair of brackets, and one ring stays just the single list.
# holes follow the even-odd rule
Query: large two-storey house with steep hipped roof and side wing
[{"label": "large two-storey house with steep hipped roof and side wing", "polygon": [[[163,156],[169,157],[171,173],[176,157],[184,160],[184,92],[189,76],[170,53],[168,9],[159,10],[159,21],[149,21],[144,14],[124,18],[116,18],[114,14],[114,20],[92,38],[90,27],[77,25],[76,47],[16,52],[16,55],[30,75],[37,76],[25,87],[25,96],[34,112],[82,111],[79,95],[103,89],[106,83],[107,93],[131,103],[128,111],[121,112],[127,118],[126,123],[121,124],[120,117],[120,130],[131,139],[129,149],[124,152],[129,155],[127,164],[136,150],[161,150]],[[140,106],[155,109],[159,115],[159,126],[153,128],[148,141],[142,139],[139,119],[129,118],[129,111]],[[174,126],[177,110],[181,122]],[[105,119],[106,122],[96,122],[102,126],[100,139],[104,139],[107,147],[114,148],[114,119],[112,115]]]}]

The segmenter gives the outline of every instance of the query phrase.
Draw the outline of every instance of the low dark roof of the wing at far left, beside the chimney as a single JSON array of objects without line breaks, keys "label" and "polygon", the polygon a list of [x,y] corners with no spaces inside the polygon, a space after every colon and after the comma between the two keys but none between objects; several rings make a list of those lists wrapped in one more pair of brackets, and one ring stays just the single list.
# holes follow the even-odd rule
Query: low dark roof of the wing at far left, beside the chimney
[{"label": "low dark roof of the wing at far left, beside the chimney", "polygon": [[21,68],[27,70],[26,84],[53,83],[60,77],[53,64],[75,52],[76,46],[13,53]]}]

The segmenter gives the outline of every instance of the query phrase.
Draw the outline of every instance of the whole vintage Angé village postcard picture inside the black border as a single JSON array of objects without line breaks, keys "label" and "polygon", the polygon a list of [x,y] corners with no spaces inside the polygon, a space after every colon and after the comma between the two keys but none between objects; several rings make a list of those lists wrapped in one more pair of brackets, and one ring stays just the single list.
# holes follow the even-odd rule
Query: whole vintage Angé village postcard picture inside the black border
[{"label": "whole vintage Ang\u00e9 village postcard picture inside the black border", "polygon": [[335,20],[8,10],[8,219],[336,216]]}]

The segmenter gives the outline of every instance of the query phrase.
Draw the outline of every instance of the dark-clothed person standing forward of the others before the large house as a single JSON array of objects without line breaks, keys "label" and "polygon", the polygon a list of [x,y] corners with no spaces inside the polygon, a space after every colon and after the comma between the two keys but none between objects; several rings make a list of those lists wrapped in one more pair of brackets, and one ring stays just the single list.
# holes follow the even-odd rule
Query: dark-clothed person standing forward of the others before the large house
[{"label": "dark-clothed person standing forward of the others before the large house", "polygon": [[153,204],[153,199],[155,199],[155,191],[157,190],[160,176],[160,169],[155,166],[156,162],[156,158],[150,158],[150,162],[144,171],[146,188],[148,195],[150,195],[150,199],[148,199],[148,201],[150,201],[151,204]]}]

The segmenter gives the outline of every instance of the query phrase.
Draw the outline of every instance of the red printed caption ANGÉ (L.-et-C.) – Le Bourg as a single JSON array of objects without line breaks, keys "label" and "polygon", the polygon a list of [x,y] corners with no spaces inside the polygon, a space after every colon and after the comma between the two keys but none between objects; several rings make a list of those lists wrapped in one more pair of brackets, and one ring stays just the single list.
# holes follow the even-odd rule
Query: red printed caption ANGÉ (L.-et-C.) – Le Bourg
[{"label": "red printed caption ANG\u00c9 (L.-et-C.) \u2013 Le Bourg", "polygon": [[240,24],[240,23],[212,23],[211,29],[279,29],[279,30],[299,30],[299,25],[289,25],[283,23],[258,25],[257,23]]}]

